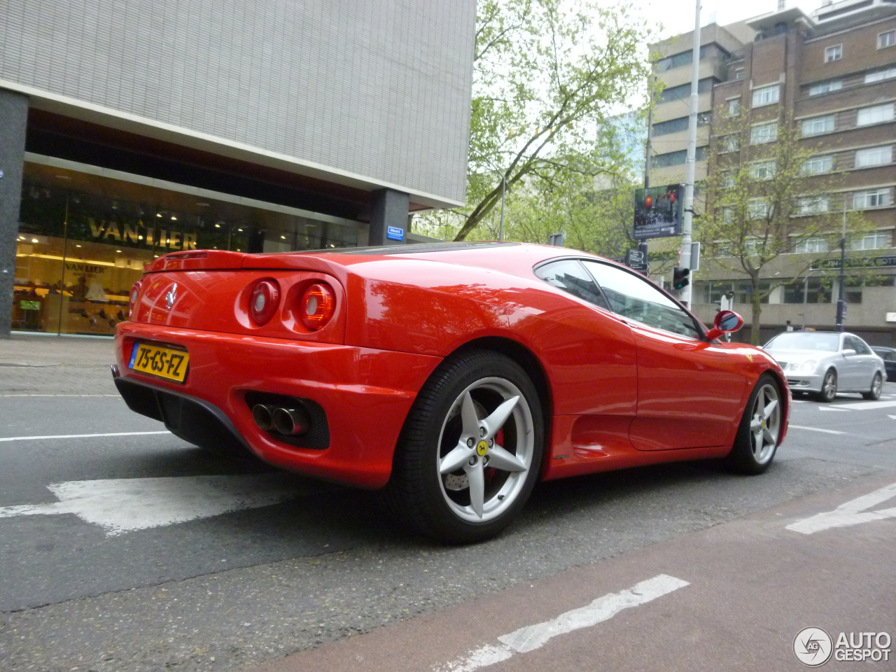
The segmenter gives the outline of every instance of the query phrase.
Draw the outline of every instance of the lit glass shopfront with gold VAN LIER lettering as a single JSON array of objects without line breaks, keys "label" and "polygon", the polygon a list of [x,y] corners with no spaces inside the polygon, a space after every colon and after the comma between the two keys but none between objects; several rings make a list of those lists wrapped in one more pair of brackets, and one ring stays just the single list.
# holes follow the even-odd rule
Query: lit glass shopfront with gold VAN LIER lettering
[{"label": "lit glass shopfront with gold VAN LIER lettering", "polygon": [[282,210],[26,162],[13,330],[112,335],[160,254],[353,247],[365,236],[358,222]]}]

